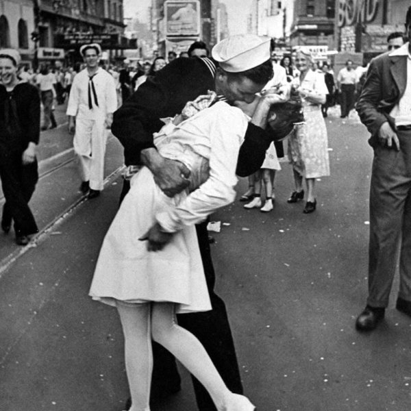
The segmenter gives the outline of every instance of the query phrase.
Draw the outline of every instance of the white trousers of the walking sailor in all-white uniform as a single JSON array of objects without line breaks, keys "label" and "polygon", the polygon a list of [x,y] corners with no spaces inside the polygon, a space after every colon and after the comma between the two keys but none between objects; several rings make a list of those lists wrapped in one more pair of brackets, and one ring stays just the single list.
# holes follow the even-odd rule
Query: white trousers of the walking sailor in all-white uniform
[{"label": "white trousers of the walking sailor in all-white uniform", "polygon": [[79,157],[82,181],[90,182],[92,190],[103,190],[107,135],[104,119],[76,119],[74,151]]}]

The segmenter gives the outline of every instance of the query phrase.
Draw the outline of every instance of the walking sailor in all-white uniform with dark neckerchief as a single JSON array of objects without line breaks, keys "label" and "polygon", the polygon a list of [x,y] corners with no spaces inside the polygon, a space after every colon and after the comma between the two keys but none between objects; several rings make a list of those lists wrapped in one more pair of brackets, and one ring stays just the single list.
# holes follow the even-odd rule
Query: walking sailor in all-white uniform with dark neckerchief
[{"label": "walking sailor in all-white uniform with dark neckerchief", "polygon": [[78,73],[71,86],[66,114],[69,132],[74,135],[82,175],[80,190],[94,199],[103,190],[104,155],[112,114],[117,108],[114,79],[99,67],[101,47],[98,44],[80,48],[86,68]]}]

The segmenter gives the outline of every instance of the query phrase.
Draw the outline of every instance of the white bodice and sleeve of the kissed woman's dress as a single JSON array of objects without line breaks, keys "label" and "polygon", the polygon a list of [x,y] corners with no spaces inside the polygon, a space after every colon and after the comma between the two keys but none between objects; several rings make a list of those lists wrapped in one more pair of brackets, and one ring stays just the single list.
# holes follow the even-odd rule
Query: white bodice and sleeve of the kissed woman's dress
[{"label": "white bodice and sleeve of the kissed woman's dress", "polygon": [[166,232],[199,223],[236,197],[238,151],[244,140],[248,118],[236,107],[219,101],[179,125],[164,126],[154,136],[161,155],[179,159],[190,168],[190,151],[209,159],[210,177],[169,211],[156,215]]}]

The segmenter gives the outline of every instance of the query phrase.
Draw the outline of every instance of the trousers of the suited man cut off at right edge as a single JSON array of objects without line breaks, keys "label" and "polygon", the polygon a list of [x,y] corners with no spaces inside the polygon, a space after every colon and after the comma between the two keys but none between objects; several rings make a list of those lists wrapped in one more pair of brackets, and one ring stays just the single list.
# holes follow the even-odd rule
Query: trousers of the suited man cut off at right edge
[{"label": "trousers of the suited man cut off at right edge", "polygon": [[397,135],[400,151],[374,150],[367,300],[372,307],[388,306],[398,260],[399,297],[411,301],[411,130]]}]

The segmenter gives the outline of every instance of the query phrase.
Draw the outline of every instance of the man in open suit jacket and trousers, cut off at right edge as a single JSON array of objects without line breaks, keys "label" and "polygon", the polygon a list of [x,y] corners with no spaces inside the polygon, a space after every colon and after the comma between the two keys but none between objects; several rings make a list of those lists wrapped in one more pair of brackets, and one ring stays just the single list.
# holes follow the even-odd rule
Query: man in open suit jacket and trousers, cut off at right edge
[{"label": "man in open suit jacket and trousers, cut off at right edge", "polygon": [[396,308],[411,316],[411,7],[406,37],[405,45],[371,61],[357,103],[374,149],[369,297],[356,321],[360,331],[375,329],[384,318],[398,260]]}]

